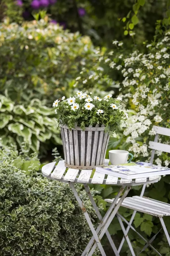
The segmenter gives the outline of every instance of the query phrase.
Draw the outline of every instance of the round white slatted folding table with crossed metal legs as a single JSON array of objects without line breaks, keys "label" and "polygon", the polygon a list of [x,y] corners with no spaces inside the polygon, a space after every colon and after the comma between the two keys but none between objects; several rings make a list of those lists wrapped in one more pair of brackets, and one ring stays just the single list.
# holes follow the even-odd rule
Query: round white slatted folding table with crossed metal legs
[{"label": "round white slatted folding table with crossed metal legs", "polygon": [[[106,159],[105,165],[108,165],[108,163],[109,163],[109,160]],[[123,200],[128,195],[128,192],[130,191],[131,186],[138,186],[138,185],[158,182],[159,176],[154,176],[154,177],[148,176],[148,178],[138,178],[138,179],[127,180],[127,179],[119,179],[117,177],[110,176],[110,175],[105,175],[105,174],[99,173],[97,171],[94,172],[93,178],[90,178],[91,174],[92,174],[92,170],[78,170],[78,169],[69,168],[66,171],[64,160],[59,161],[57,165],[56,165],[56,162],[51,162],[42,167],[42,175],[44,177],[49,178],[49,179],[54,179],[54,180],[57,180],[60,182],[66,182],[70,185],[70,187],[74,193],[74,196],[77,199],[77,202],[78,202],[79,206],[81,207],[81,210],[84,213],[85,218],[89,224],[89,227],[92,231],[93,236],[92,236],[91,240],[89,241],[88,245],[86,246],[85,250],[81,254],[81,256],[86,256],[86,255],[92,256],[96,247],[99,248],[102,256],[106,256],[106,254],[103,250],[103,247],[100,243],[100,240],[102,239],[104,234],[106,234],[115,255],[119,256],[119,253],[118,253],[118,251],[115,247],[115,244],[114,244],[107,229],[108,229],[110,223],[112,222],[113,218],[117,214],[118,209],[121,206]],[[81,201],[81,199],[75,189],[74,183],[81,183],[84,185],[86,193],[89,196],[89,199],[91,200],[91,203],[95,209],[96,215],[100,221],[99,226],[97,227],[96,230],[93,227],[91,219],[86,211],[85,205]],[[106,185],[113,185],[113,186],[119,185],[120,186],[120,190],[118,191],[117,196],[111,203],[111,205],[110,205],[109,209],[107,210],[103,219],[102,219],[99,209],[97,208],[97,205],[91,195],[88,184],[106,184]],[[119,201],[118,201],[118,199],[119,199]],[[117,201],[118,201],[118,203],[117,203]]]}]

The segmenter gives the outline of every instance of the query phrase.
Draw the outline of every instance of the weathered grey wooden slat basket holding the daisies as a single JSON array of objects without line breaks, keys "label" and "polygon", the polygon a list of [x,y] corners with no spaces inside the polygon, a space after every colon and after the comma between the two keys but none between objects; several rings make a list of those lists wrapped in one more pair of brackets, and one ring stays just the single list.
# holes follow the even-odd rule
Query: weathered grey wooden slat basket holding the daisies
[{"label": "weathered grey wooden slat basket holding the daisies", "polygon": [[65,166],[74,169],[93,169],[104,166],[109,135],[105,126],[75,127],[71,130],[60,125],[64,149]]}]

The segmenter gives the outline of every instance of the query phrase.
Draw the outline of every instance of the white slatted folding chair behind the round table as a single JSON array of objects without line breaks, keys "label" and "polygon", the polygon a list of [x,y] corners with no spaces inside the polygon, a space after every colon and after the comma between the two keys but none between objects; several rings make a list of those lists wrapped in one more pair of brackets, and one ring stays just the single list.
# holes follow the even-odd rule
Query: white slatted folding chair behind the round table
[{"label": "white slatted folding chair behind the round table", "polygon": [[[158,135],[165,135],[165,136],[170,136],[170,129],[168,128],[163,128],[163,127],[159,127],[159,126],[153,126],[153,129],[156,132],[155,135],[155,139],[154,141],[149,141],[149,148],[152,149],[152,153],[151,153],[151,159],[150,159],[150,163],[153,163],[153,159],[154,159],[154,154],[155,154],[155,150],[161,150],[163,152],[167,152],[170,153],[170,145],[167,144],[162,144],[162,143],[158,143]],[[150,177],[149,180],[155,179],[155,177]],[[129,222],[127,222],[127,220],[120,215],[120,213],[117,213],[117,218],[118,221],[121,225],[122,231],[124,233],[124,237],[122,238],[122,241],[120,243],[120,246],[118,248],[118,253],[120,253],[121,248],[124,244],[124,241],[126,239],[129,249],[132,253],[132,256],[135,256],[135,252],[133,251],[131,242],[129,240],[128,237],[128,231],[131,228],[133,231],[135,231],[145,242],[146,245],[143,247],[143,249],[138,253],[138,255],[144,251],[148,246],[150,246],[155,252],[157,252],[158,255],[161,256],[161,254],[151,245],[151,242],[155,239],[155,237],[157,236],[157,234],[161,231],[161,229],[163,228],[165,236],[167,237],[167,241],[168,244],[170,246],[170,238],[169,238],[169,234],[167,231],[167,228],[165,226],[164,220],[163,220],[163,216],[170,216],[170,204],[168,203],[163,203],[160,202],[158,200],[154,200],[154,199],[150,199],[150,198],[146,198],[143,197],[144,191],[146,188],[146,184],[143,185],[142,187],[142,191],[140,193],[140,196],[132,196],[132,197],[126,197],[125,200],[122,202],[121,206],[126,207],[128,209],[132,209],[134,210],[132,217],[130,219]],[[105,199],[106,202],[112,203],[114,199]],[[149,241],[147,241],[143,236],[141,236],[132,226],[132,222],[133,219],[135,217],[136,212],[142,212],[142,213],[147,213],[149,215],[153,215],[153,216],[157,216],[160,219],[161,222],[161,229],[158,231],[157,234],[155,234]],[[125,229],[124,224],[122,222],[122,220],[128,225],[127,229]]]}]

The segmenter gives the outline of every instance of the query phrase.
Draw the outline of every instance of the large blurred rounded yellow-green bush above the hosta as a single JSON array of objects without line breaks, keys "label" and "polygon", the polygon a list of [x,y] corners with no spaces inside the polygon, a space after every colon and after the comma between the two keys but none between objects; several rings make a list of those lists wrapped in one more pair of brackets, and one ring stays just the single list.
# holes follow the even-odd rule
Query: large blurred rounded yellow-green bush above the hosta
[{"label": "large blurred rounded yellow-green bush above the hosta", "polygon": [[[46,100],[46,105],[61,95],[72,94],[74,79],[82,68],[97,71],[101,52],[88,36],[69,33],[59,25],[39,21],[9,24],[0,23],[0,93],[16,103],[29,104],[33,98]],[[93,88],[107,88],[103,71]],[[98,74],[97,74],[98,75]],[[110,81],[108,80],[110,86]],[[86,89],[88,86],[82,84]]]}]

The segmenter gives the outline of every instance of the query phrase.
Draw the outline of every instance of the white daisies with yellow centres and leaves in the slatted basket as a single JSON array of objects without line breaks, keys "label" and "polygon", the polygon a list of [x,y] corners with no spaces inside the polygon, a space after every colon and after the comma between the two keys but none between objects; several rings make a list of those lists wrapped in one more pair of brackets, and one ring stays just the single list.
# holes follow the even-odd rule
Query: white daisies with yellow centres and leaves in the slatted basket
[{"label": "white daisies with yellow centres and leaves in the slatted basket", "polygon": [[128,117],[127,113],[120,109],[120,101],[122,98],[113,99],[112,94],[100,98],[93,96],[91,92],[88,95],[77,91],[74,97],[65,99],[63,96],[61,102],[56,100],[53,107],[58,114],[58,121],[66,124],[69,129],[74,128],[75,123],[82,129],[89,125],[104,124],[106,131],[115,132]]}]

